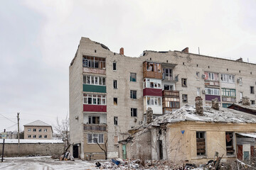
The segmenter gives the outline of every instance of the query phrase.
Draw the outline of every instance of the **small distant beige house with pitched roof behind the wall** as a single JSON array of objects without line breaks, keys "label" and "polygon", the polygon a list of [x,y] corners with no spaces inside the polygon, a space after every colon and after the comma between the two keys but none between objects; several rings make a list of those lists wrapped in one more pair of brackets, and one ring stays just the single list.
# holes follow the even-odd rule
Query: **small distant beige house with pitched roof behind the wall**
[{"label": "small distant beige house with pitched roof behind the wall", "polygon": [[53,138],[53,128],[51,125],[41,120],[33,121],[24,125],[24,139],[31,140],[51,140]]}]

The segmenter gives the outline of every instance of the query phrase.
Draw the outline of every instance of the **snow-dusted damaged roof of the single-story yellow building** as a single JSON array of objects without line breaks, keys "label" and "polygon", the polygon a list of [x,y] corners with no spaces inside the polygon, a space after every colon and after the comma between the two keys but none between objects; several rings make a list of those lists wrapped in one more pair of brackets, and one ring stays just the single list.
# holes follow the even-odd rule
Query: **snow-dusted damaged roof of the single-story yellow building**
[{"label": "snow-dusted damaged roof of the single-story yellow building", "polygon": [[184,121],[215,122],[215,123],[256,123],[256,116],[241,111],[235,111],[228,108],[215,110],[208,106],[203,106],[203,115],[196,114],[196,108],[192,105],[186,105],[174,111],[156,118],[152,125],[162,123],[177,123]]}]

